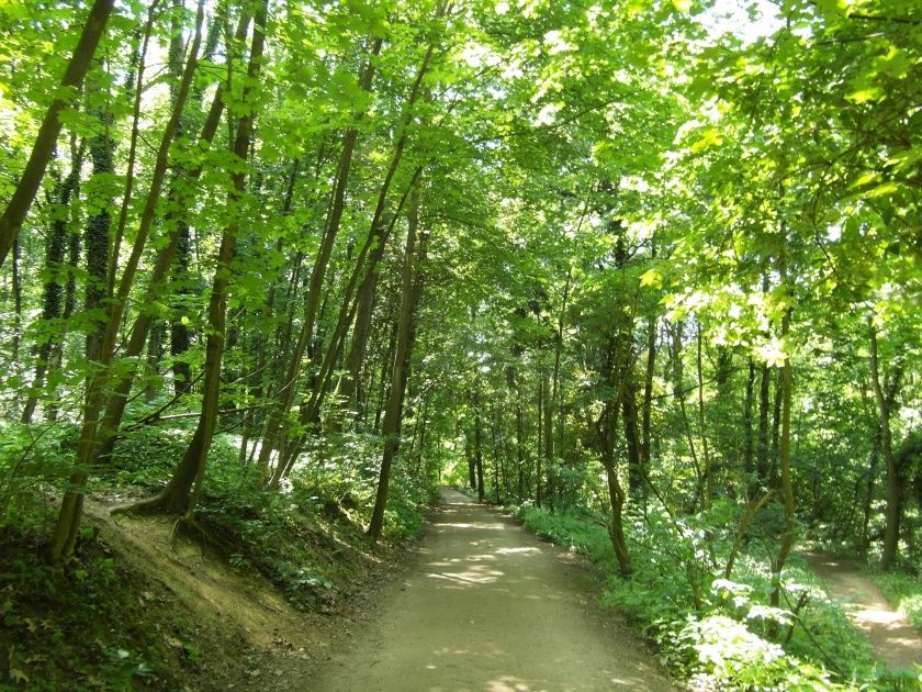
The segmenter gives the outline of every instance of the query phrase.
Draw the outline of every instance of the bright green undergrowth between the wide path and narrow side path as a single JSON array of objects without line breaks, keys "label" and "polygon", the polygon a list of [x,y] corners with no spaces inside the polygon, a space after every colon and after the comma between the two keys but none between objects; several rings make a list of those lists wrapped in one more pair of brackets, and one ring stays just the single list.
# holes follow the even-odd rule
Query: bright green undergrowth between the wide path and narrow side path
[{"label": "bright green undergrowth between the wide path and narrow side path", "polygon": [[[913,690],[912,676],[875,666],[866,639],[831,602],[799,556],[784,572],[780,609],[768,605],[769,554],[755,539],[729,579],[733,509],[632,517],[633,571],[617,572],[603,516],[582,507],[517,511],[522,524],[572,547],[608,574],[603,603],[626,614],[657,646],[661,662],[695,690]],[[728,516],[722,516],[728,514]]]}]

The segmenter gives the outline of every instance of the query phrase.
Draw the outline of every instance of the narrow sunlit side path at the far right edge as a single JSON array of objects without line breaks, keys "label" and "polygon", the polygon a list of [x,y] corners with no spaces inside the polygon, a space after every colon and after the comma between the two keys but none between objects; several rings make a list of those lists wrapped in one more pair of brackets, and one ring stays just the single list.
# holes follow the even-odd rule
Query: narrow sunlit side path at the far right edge
[{"label": "narrow sunlit side path at the far right edge", "polygon": [[922,638],[893,611],[857,562],[823,553],[806,553],[831,599],[867,635],[874,657],[891,670],[922,665]]}]

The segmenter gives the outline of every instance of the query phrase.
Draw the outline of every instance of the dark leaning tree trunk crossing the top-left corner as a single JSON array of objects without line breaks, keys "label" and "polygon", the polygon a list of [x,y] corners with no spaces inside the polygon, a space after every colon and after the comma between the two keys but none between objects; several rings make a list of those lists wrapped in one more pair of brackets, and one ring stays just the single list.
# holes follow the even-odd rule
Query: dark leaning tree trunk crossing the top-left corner
[{"label": "dark leaning tree trunk crossing the top-left corner", "polygon": [[74,55],[61,78],[57,91],[59,96],[45,112],[29,161],[22,171],[10,202],[3,210],[2,216],[0,216],[0,266],[5,261],[7,255],[19,235],[25,214],[29,213],[29,209],[35,200],[35,194],[38,192],[38,186],[42,183],[42,177],[45,175],[45,168],[54,154],[55,143],[60,132],[60,113],[72,102],[75,92],[79,91],[83,83],[83,77],[90,69],[93,54],[102,33],[105,31],[105,23],[109,21],[114,4],[114,0],[95,0],[90,8],[77,47],[74,48]]}]

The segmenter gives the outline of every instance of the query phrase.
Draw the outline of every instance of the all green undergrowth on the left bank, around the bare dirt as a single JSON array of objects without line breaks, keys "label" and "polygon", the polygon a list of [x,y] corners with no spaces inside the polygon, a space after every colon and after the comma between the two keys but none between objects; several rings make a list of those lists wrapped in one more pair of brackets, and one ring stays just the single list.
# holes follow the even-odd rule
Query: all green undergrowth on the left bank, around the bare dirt
[{"label": "all green undergrowth on the left bank, around the bare dirt", "polygon": [[[94,469],[90,496],[123,503],[156,493],[184,453],[193,423],[127,433]],[[234,657],[235,645],[225,647],[214,633],[207,655],[199,650],[196,626],[177,611],[175,596],[94,531],[82,529],[67,565],[43,562],[76,426],[7,425],[0,432],[0,690],[207,688],[194,682],[206,674],[205,659],[220,660],[215,647]],[[312,449],[281,491],[268,492],[258,489],[252,465],[240,464],[238,439],[217,435],[195,511],[196,537],[239,572],[268,578],[295,607],[333,612],[372,574],[382,549],[418,535],[423,509],[434,499],[434,487],[411,480],[414,469],[398,458],[384,546],[373,555],[363,527],[379,460],[380,438],[342,435]]]}]

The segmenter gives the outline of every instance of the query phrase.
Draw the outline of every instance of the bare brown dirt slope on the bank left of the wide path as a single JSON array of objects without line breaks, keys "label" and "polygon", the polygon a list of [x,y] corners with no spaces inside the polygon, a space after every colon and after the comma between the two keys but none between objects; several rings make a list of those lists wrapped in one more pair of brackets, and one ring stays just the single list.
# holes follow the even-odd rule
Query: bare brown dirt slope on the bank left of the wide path
[{"label": "bare brown dirt slope on the bank left of the wide path", "polygon": [[[199,542],[173,537],[175,517],[110,516],[112,503],[88,502],[87,522],[121,559],[158,583],[149,598],[195,623],[187,637],[201,655],[198,669],[178,671],[189,690],[272,690],[304,692],[327,651],[347,640],[355,623],[371,617],[386,561],[346,607],[331,615],[292,607],[259,574],[241,573]],[[180,646],[162,625],[168,644]]]}]

